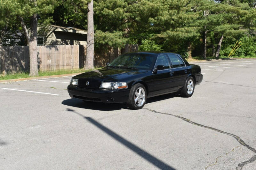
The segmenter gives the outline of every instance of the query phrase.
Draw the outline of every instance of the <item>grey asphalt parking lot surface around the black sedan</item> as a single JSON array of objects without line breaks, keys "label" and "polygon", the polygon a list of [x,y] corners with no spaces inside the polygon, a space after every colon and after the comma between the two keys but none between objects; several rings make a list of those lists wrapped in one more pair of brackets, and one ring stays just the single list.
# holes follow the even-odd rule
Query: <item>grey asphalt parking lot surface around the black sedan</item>
[{"label": "grey asphalt parking lot surface around the black sedan", "polygon": [[71,77],[0,84],[0,169],[255,170],[256,59],[193,64],[191,98],[140,110],[71,99]]}]

